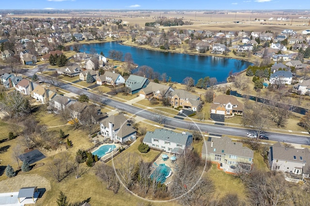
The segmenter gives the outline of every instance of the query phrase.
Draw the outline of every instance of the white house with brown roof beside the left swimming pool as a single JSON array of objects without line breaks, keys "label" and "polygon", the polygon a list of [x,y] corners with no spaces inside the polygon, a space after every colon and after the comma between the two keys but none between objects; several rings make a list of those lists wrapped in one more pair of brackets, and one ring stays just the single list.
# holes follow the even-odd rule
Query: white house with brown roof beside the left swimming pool
[{"label": "white house with brown roof beside the left swimming pool", "polygon": [[125,143],[135,141],[137,130],[133,128],[124,115],[109,116],[100,122],[100,132],[110,140]]}]

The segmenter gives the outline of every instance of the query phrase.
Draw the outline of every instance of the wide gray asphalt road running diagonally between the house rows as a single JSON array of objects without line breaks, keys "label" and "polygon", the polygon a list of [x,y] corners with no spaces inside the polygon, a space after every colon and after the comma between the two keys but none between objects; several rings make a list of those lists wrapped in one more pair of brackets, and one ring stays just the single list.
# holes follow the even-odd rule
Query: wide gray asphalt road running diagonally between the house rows
[{"label": "wide gray asphalt road running diagonally between the house rows", "polygon": [[[31,69],[31,70],[25,70],[24,75],[31,77],[37,71],[38,71],[38,68]],[[38,76],[41,81],[49,82],[49,79],[47,77],[40,76],[40,75]],[[139,107],[129,105],[126,103],[122,103],[122,102],[119,102],[113,99],[109,99],[107,97],[94,94],[88,90],[76,88],[72,85],[65,84],[65,83],[60,83],[60,88],[63,88],[75,94],[85,94],[91,100],[104,103],[116,109],[124,110],[128,113],[135,114],[145,119],[149,119],[152,121],[157,121],[159,118],[164,119],[163,124],[169,127],[200,130],[201,132],[208,132],[212,134],[226,134],[226,135],[235,135],[235,136],[241,136],[241,137],[246,137],[247,132],[251,132],[248,129],[235,128],[235,127],[222,126],[222,125],[214,125],[214,124],[194,123],[194,122],[189,122],[189,121],[185,121],[185,120],[181,120],[177,118],[162,117],[158,114],[155,114],[147,110],[143,110]],[[294,135],[294,134],[286,134],[286,133],[279,133],[279,132],[263,132],[263,134],[268,136],[269,140],[273,140],[273,141],[280,141],[280,142],[284,141],[286,143],[310,145],[309,135]]]}]

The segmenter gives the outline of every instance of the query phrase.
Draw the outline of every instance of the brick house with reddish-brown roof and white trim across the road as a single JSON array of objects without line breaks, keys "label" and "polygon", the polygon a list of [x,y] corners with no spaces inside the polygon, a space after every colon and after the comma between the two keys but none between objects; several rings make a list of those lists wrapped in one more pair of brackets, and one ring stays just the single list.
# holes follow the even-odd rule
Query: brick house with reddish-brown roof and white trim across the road
[{"label": "brick house with reddish-brown roof and white trim across the road", "polygon": [[210,113],[220,115],[242,115],[243,104],[232,95],[215,95],[210,107]]}]

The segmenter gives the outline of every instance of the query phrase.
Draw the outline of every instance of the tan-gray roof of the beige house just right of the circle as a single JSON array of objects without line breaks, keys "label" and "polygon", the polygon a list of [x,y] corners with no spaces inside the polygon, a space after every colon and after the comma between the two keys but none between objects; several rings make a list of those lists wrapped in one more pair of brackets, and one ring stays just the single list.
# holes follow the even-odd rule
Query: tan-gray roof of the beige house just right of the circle
[{"label": "tan-gray roof of the beige house just right of the circle", "polygon": [[[211,147],[211,142],[213,141],[213,147]],[[205,146],[206,144],[206,146]],[[206,148],[207,147],[207,148]],[[207,151],[206,151],[207,149]],[[254,152],[248,147],[243,147],[242,143],[232,142],[229,137],[209,137],[207,141],[204,141],[202,146],[202,154],[214,153],[220,155],[235,155],[239,157],[253,158]]]}]

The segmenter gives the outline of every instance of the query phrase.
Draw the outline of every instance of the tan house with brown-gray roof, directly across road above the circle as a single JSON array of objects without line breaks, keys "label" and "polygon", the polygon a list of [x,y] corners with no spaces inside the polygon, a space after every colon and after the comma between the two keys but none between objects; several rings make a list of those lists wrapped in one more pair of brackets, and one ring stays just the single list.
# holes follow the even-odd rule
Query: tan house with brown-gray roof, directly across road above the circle
[{"label": "tan house with brown-gray roof, directly across road above the circle", "polygon": [[184,109],[197,111],[199,104],[201,104],[201,97],[192,94],[183,89],[177,89],[171,92],[170,103],[174,107],[182,106]]}]

